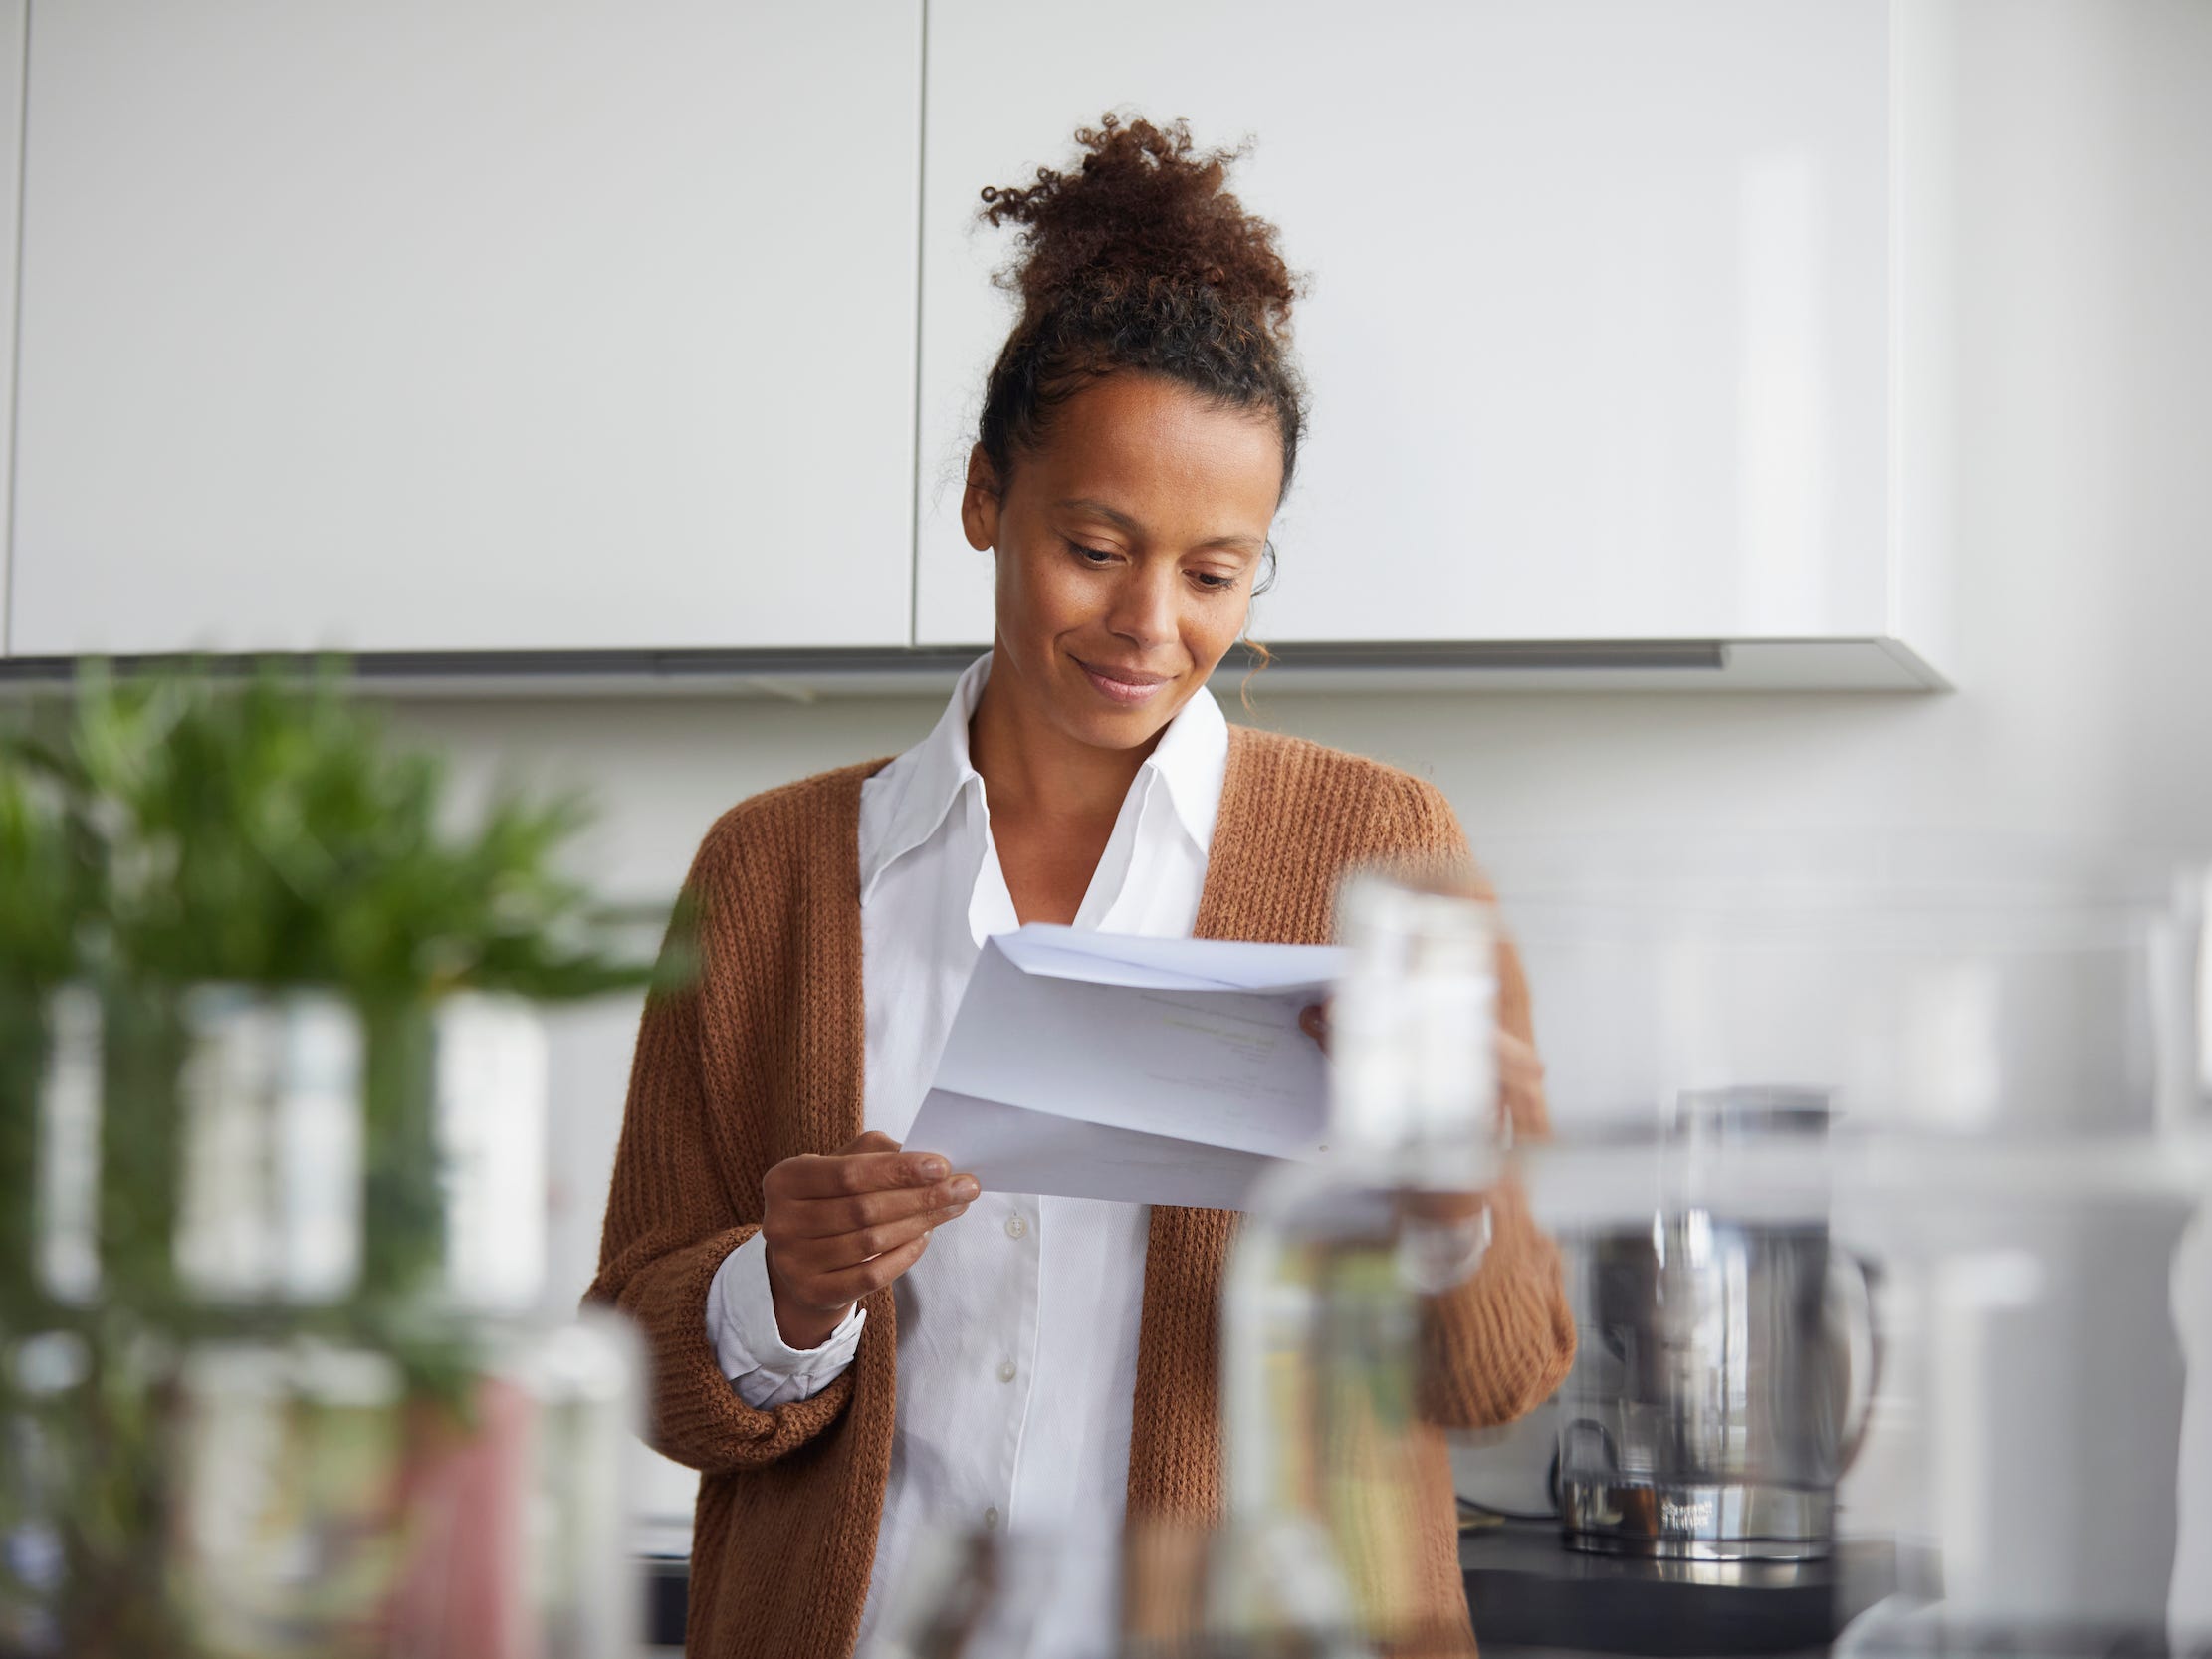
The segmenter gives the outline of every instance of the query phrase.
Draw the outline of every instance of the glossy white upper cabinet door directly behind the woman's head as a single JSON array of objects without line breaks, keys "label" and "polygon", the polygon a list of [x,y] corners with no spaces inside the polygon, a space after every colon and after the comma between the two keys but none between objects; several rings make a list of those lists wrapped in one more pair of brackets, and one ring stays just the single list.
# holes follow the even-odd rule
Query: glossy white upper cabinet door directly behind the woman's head
[{"label": "glossy white upper cabinet door directly behind the woman's head", "polygon": [[1256,142],[1314,394],[1261,639],[1730,639],[1887,622],[1878,0],[931,0],[918,637],[1013,321],[975,192],[1108,106]]}]

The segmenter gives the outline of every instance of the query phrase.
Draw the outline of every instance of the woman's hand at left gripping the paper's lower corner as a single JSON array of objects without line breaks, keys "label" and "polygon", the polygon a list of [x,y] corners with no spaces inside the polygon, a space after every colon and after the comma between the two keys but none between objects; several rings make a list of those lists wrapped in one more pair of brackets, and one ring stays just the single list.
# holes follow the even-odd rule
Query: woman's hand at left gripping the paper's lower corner
[{"label": "woman's hand at left gripping the paper's lower corner", "polygon": [[936,1152],[869,1130],[834,1157],[787,1157],[761,1179],[761,1237],[776,1329],[821,1347],[845,1314],[922,1259],[929,1232],[982,1188]]}]

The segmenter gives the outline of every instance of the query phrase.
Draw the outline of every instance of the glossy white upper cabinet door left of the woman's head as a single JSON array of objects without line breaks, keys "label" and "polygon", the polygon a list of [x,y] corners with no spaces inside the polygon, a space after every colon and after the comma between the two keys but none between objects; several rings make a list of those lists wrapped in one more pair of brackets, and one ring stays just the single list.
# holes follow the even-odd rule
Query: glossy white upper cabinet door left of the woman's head
[{"label": "glossy white upper cabinet door left of the woman's head", "polygon": [[905,644],[920,0],[31,27],[20,655]]}]

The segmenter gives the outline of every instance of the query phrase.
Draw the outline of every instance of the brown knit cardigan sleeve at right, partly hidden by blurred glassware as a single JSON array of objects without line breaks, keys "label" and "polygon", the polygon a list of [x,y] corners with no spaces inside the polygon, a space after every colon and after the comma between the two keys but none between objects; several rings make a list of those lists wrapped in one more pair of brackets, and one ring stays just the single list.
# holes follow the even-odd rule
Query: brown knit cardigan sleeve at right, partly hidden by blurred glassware
[{"label": "brown knit cardigan sleeve at right, partly hidden by blurred glassware", "polygon": [[[1475,872],[1451,803],[1413,779],[1409,843],[1425,860],[1458,867],[1482,898],[1495,898]],[[1520,951],[1498,938],[1498,1024],[1535,1042],[1528,975]],[[1548,1130],[1542,1097],[1513,1110],[1515,1141]],[[1559,1248],[1537,1228],[1517,1177],[1486,1194],[1491,1248],[1464,1283],[1436,1296],[1422,1318],[1422,1416],[1447,1427],[1491,1427],[1526,1416],[1557,1389],[1575,1363],[1575,1314],[1566,1301]]]}]

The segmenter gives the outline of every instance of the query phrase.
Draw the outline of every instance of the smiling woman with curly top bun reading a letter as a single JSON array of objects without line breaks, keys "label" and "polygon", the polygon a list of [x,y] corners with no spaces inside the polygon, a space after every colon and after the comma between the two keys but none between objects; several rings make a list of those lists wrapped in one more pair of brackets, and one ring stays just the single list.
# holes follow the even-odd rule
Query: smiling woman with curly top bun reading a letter
[{"label": "smiling woman with curly top bun reading a letter", "polygon": [[[1230,728],[1206,690],[1305,425],[1294,285],[1183,124],[1077,142],[1077,173],[982,192],[1024,226],[960,509],[998,568],[991,655],[898,759],[723,814],[688,880],[697,984],[639,1031],[591,1296],[644,1325],[653,1442],[703,1473],[692,1652],[849,1652],[922,1526],[1219,1515],[1234,1217],[978,1192],[900,1148],[982,940],[1316,942],[1349,865],[1464,858],[1431,785]],[[1504,973],[1509,1106],[1537,1130]],[[1557,1259],[1511,1199],[1429,1327],[1447,1420],[1564,1376]],[[1464,1632],[1440,1451],[1420,1504]]]}]

